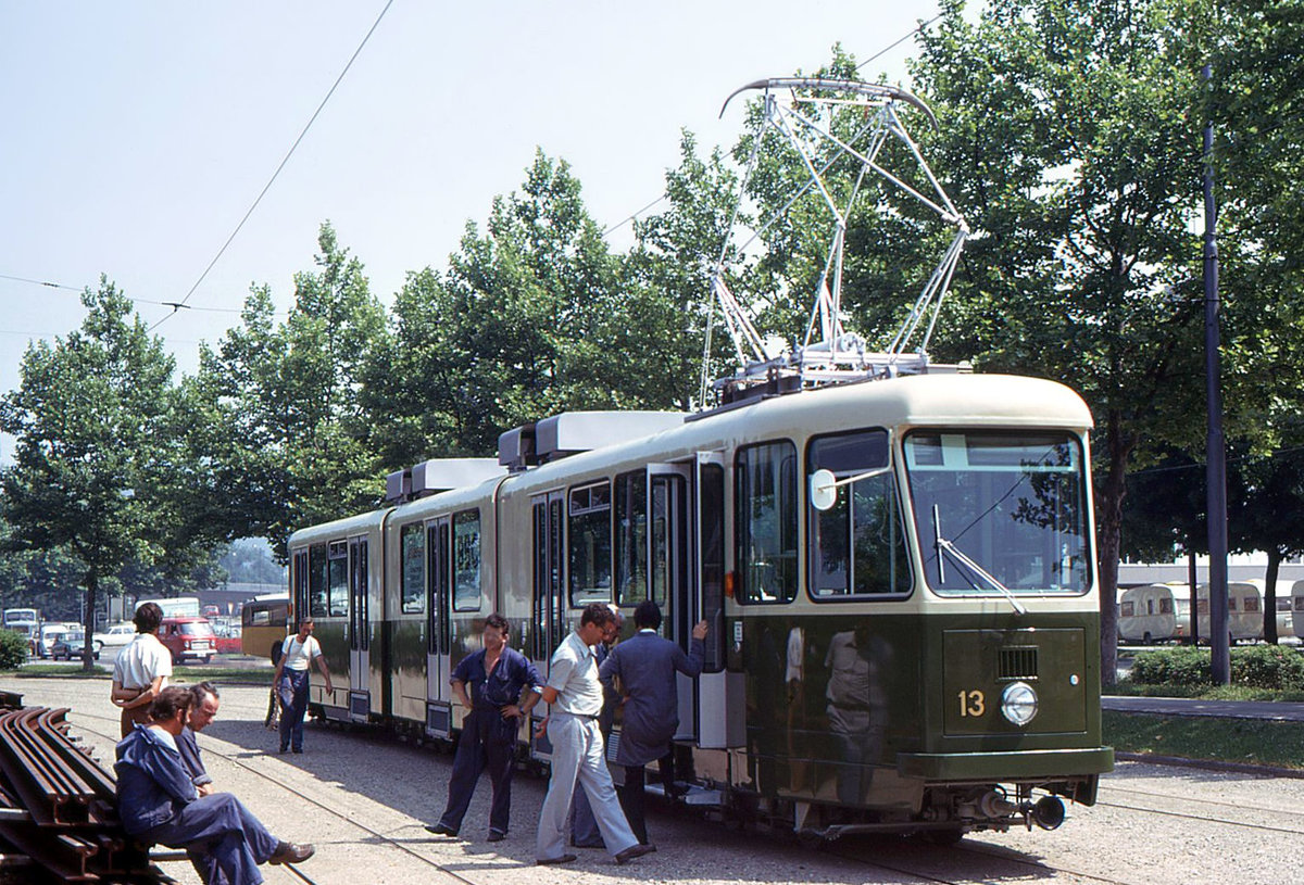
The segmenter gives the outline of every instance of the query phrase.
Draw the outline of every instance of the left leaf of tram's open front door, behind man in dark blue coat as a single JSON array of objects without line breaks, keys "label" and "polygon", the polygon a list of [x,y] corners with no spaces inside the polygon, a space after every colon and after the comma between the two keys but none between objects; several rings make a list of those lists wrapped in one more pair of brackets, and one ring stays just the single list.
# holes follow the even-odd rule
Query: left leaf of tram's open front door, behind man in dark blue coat
[{"label": "left leaf of tram's open front door, behind man in dark blue coat", "polygon": [[[662,601],[666,639],[689,650],[700,609],[692,580],[692,527],[690,517],[691,464],[648,464],[648,580],[652,598]],[[682,673],[678,682],[679,731],[675,740],[698,739],[698,686]]]}]

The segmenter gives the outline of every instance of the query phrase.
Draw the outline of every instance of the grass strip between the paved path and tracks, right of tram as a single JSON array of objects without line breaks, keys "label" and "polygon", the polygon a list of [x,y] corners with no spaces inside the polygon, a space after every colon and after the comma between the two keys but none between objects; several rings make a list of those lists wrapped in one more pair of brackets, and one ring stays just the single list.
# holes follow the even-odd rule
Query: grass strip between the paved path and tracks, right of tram
[{"label": "grass strip between the paved path and tracks, right of tram", "polygon": [[1120,752],[1304,769],[1304,722],[1116,710],[1102,717],[1104,743]]}]

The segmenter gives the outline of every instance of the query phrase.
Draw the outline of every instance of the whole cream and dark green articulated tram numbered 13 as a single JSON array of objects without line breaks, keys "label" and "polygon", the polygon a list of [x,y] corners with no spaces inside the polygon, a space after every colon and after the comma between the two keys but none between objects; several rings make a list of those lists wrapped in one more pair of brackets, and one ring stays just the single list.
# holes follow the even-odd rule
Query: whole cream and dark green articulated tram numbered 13
[{"label": "whole cream and dark green articulated tram numbered 13", "polygon": [[951,838],[1094,803],[1112,751],[1076,394],[932,374],[585,421],[625,433],[522,428],[510,472],[291,537],[296,611],[348,674],[314,682],[318,712],[451,740],[449,674],[492,611],[545,673],[583,605],[653,598],[669,639],[711,627],[679,686],[690,804]]}]

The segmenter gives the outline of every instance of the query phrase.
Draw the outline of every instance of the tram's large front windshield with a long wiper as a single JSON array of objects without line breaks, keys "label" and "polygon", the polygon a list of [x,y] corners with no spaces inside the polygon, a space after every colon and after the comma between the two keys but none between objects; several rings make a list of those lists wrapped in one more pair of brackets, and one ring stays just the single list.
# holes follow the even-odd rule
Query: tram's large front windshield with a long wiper
[{"label": "tram's large front windshield with a long wiper", "polygon": [[1088,590],[1086,473],[1076,437],[917,430],[905,438],[905,456],[934,590]]}]

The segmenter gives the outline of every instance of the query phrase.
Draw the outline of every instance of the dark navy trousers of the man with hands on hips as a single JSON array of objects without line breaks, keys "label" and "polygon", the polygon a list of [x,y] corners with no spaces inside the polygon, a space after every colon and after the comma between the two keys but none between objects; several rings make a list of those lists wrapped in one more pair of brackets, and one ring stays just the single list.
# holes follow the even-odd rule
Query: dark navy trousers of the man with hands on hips
[{"label": "dark navy trousers of the man with hands on hips", "polygon": [[462,819],[471,807],[476,781],[481,772],[489,773],[493,785],[493,804],[489,808],[489,829],[507,832],[511,813],[511,776],[515,772],[516,731],[520,719],[502,718],[497,708],[476,708],[462,722],[458,752],[452,757],[452,777],[449,779],[449,804],[439,822],[450,830],[462,829]]}]

